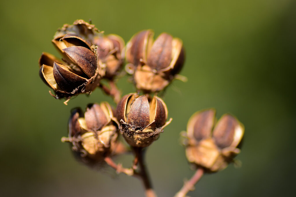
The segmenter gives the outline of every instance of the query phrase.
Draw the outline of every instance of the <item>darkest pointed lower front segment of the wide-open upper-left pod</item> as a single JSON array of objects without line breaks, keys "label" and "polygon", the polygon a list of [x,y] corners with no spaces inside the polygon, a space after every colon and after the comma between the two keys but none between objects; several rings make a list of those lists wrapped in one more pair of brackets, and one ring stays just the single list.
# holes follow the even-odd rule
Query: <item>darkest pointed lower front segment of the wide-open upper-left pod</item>
[{"label": "darkest pointed lower front segment of the wide-open upper-left pod", "polygon": [[68,93],[73,92],[74,89],[87,82],[85,78],[74,74],[67,67],[56,62],[54,62],[53,74],[57,85]]}]

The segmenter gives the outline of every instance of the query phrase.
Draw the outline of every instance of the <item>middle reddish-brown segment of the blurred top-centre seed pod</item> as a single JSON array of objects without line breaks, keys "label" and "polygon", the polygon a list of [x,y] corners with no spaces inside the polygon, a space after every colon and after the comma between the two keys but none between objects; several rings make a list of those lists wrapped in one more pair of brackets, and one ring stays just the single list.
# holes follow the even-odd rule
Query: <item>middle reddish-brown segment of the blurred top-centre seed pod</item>
[{"label": "middle reddish-brown segment of the blurred top-centre seed pod", "polygon": [[150,68],[158,71],[170,65],[172,60],[172,40],[171,35],[162,33],[154,41],[147,58]]}]

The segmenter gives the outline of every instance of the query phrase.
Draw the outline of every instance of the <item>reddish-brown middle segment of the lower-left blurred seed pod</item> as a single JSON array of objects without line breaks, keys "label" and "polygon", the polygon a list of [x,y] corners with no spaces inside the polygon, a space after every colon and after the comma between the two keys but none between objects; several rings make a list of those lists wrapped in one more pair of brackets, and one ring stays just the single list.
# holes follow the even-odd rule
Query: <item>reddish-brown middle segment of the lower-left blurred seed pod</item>
[{"label": "reddish-brown middle segment of the lower-left blurred seed pod", "polygon": [[86,108],[84,118],[87,128],[93,131],[100,130],[107,123],[107,117],[98,104],[93,104]]}]

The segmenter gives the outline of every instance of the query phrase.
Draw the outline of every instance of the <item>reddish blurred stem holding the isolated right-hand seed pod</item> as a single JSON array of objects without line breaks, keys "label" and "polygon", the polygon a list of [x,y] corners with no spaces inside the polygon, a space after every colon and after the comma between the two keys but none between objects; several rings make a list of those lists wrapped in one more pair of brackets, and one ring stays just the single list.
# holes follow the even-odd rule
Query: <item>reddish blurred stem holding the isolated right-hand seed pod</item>
[{"label": "reddish blurred stem holding the isolated right-hand seed pod", "polygon": [[200,178],[202,178],[203,174],[203,168],[198,168],[192,178],[186,181],[181,190],[176,193],[175,197],[185,197],[190,190],[193,191],[194,185],[200,180]]}]

